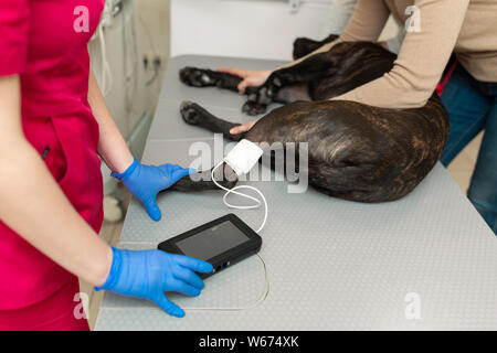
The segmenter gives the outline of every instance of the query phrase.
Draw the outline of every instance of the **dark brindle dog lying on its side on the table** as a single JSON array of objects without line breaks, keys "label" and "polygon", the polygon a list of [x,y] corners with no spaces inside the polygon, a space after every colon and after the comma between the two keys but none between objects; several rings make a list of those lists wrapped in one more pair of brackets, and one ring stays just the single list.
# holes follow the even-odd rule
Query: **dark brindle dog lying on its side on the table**
[{"label": "dark brindle dog lying on its side on the table", "polygon": [[[334,36],[326,41],[334,40]],[[299,39],[295,57],[324,42]],[[273,103],[286,106],[262,117],[242,135],[239,126],[211,115],[194,103],[183,103],[186,122],[252,142],[308,142],[308,180],[319,191],[358,202],[385,202],[410,193],[432,170],[448,137],[448,116],[436,94],[422,108],[385,109],[346,100],[327,100],[389,72],[395,55],[367,42],[346,42],[330,51],[275,71],[256,88],[247,89],[243,111],[257,115]],[[195,87],[218,86],[236,92],[241,78],[225,73],[186,67],[180,78]],[[211,189],[181,180],[176,189]]]}]

